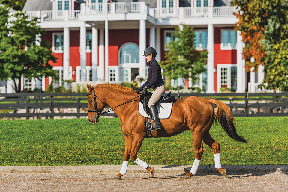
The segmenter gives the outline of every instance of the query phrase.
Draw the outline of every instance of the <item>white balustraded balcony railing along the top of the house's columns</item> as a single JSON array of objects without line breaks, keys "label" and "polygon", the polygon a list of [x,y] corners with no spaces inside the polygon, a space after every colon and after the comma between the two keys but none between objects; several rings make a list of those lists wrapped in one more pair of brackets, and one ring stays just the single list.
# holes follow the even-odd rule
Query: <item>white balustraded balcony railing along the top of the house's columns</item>
[{"label": "white balustraded balcony railing along the top of the house's columns", "polygon": [[[107,7],[107,8],[105,8]],[[145,2],[130,3],[90,3],[81,4],[81,10],[73,11],[27,11],[29,19],[39,17],[41,21],[78,20],[79,14],[147,13],[156,19],[189,17],[226,17],[237,12],[235,7],[179,7],[150,8]]]}]

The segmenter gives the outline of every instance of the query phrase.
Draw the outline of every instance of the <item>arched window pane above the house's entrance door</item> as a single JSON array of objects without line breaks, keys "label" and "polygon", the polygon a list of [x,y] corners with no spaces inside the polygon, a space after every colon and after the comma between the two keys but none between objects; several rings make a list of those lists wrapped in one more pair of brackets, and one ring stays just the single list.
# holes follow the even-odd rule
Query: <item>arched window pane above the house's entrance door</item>
[{"label": "arched window pane above the house's entrance door", "polygon": [[134,43],[127,43],[120,50],[120,64],[139,63],[139,47]]}]

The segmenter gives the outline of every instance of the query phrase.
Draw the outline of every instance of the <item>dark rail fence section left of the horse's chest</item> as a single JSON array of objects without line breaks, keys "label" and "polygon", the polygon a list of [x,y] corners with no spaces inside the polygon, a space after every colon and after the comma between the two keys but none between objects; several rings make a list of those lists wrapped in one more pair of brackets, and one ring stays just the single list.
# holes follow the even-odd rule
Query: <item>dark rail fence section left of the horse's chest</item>
[{"label": "dark rail fence section left of the horse's chest", "polygon": [[[13,113],[0,113],[0,118],[49,117],[53,119],[56,116],[75,116],[77,118],[88,116],[87,93],[13,93],[1,94],[1,97],[4,99],[0,100],[0,110],[13,110]],[[71,108],[76,109],[73,110],[75,112],[71,112],[71,110],[70,112],[61,112],[61,109]],[[108,110],[108,108],[104,110]],[[21,113],[18,112],[21,109],[24,110]],[[117,117],[115,113],[107,113],[105,116]]]}]

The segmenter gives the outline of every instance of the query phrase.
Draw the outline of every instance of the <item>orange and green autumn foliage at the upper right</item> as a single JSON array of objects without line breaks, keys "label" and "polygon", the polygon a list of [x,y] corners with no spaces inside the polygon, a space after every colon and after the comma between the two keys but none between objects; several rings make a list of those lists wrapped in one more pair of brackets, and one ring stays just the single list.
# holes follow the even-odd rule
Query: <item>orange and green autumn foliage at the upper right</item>
[{"label": "orange and green autumn foliage at the upper right", "polygon": [[241,31],[245,43],[246,71],[254,67],[256,72],[262,64],[263,86],[288,91],[288,0],[234,0],[232,5],[240,10],[235,30]]}]

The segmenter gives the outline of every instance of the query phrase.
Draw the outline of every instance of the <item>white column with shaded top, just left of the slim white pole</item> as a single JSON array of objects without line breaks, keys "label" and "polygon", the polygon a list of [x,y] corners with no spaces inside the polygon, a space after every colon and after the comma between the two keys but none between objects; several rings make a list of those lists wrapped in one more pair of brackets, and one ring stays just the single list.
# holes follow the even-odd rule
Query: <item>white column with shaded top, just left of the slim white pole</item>
[{"label": "white column with shaded top, just left of the slim white pole", "polygon": [[100,29],[99,39],[99,67],[97,70],[98,81],[104,81],[104,29]]}]

